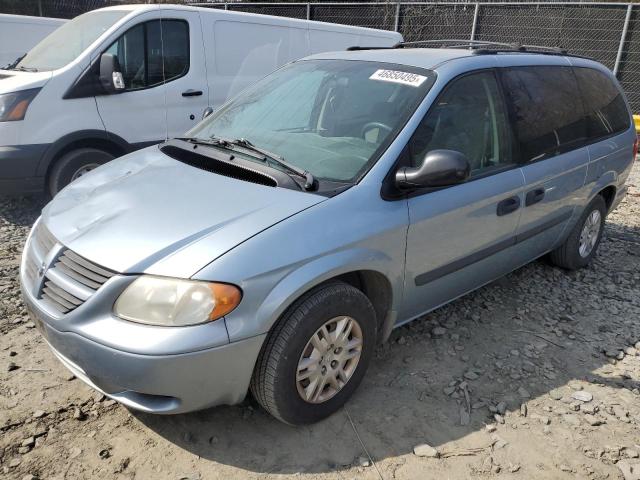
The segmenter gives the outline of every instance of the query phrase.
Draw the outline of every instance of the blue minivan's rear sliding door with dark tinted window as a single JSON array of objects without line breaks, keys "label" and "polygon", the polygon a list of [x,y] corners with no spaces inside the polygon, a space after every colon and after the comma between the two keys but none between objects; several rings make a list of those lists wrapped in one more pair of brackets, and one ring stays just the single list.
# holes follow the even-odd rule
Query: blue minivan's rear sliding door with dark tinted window
[{"label": "blue minivan's rear sliding door with dark tinted window", "polygon": [[518,248],[535,258],[555,245],[581,203],[589,163],[584,108],[571,67],[501,74],[526,183]]}]

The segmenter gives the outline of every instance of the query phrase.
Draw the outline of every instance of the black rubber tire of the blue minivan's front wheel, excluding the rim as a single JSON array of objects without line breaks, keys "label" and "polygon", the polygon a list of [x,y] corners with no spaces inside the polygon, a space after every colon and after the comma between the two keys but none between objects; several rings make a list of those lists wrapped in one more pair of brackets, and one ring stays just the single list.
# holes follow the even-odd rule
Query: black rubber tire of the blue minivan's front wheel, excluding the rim
[{"label": "black rubber tire of the blue minivan's front wheel, excluding the rim", "polygon": [[[309,403],[298,393],[296,372],[303,349],[328,320],[355,319],[362,332],[360,360],[342,389],[322,403]],[[262,407],[290,425],[322,420],[338,410],[362,380],[376,345],[376,314],[369,299],[343,282],[321,285],[298,299],[280,318],[260,352],[251,392]]]}]

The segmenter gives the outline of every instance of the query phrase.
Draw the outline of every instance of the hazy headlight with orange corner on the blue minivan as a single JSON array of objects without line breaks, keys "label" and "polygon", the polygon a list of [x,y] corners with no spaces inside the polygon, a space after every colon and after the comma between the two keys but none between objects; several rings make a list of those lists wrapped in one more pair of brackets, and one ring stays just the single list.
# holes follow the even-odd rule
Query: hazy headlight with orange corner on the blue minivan
[{"label": "hazy headlight with orange corner on the blue minivan", "polygon": [[225,283],[142,276],[122,292],[114,312],[132,322],[182,327],[216,320],[241,298],[238,287]]}]

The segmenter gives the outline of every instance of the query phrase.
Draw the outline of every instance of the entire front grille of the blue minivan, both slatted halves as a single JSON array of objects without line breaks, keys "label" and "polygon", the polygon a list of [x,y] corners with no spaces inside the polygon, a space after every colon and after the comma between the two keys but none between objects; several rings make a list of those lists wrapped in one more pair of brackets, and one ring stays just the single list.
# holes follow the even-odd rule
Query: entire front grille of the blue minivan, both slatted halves
[{"label": "entire front grille of the blue minivan, both slatted halves", "polygon": [[[51,264],[47,265],[48,262]],[[42,223],[36,225],[26,252],[24,278],[26,286],[50,311],[69,313],[114,275],[115,272],[59,245]]]}]

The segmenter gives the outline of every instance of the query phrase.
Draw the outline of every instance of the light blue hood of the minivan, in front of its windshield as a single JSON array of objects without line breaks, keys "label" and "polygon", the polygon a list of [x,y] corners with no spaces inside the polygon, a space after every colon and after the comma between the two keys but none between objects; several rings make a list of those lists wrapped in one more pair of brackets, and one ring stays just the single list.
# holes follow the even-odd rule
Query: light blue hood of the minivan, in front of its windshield
[{"label": "light blue hood of the minivan, in front of its windshield", "polygon": [[60,243],[103,267],[188,278],[323,200],[210,173],[154,146],[69,185],[45,207],[42,221]]}]

